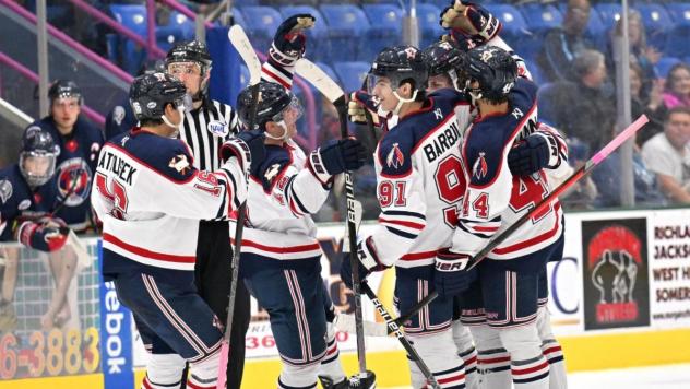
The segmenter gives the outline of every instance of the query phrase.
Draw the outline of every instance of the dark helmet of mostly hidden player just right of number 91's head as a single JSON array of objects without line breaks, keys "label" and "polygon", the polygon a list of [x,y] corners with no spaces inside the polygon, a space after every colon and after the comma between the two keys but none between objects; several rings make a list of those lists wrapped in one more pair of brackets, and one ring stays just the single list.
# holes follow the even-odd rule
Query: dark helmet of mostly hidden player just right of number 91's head
[{"label": "dark helmet of mostly hidden player just right of number 91's head", "polygon": [[429,66],[429,76],[447,74],[456,90],[462,90],[464,69],[467,67],[467,54],[450,42],[439,40],[424,49],[423,55]]}]

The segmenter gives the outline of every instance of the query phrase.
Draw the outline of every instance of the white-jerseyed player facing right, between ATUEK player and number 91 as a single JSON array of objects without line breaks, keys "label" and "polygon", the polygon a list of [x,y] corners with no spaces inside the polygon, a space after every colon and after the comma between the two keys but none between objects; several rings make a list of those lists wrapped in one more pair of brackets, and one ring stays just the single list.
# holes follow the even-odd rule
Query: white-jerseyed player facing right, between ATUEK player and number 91
[{"label": "white-jerseyed player facing right, between ATUEK player and number 91", "polygon": [[[330,355],[336,349],[334,333],[326,333],[322,252],[310,214],[326,200],[334,175],[362,165],[365,151],[357,140],[345,139],[306,156],[292,140],[301,116],[297,98],[271,82],[259,85],[259,95],[254,129],[266,134],[266,158],[251,170],[240,271],[270,316],[283,363],[278,388],[316,388],[318,375],[330,388],[347,388],[340,362]],[[251,104],[246,89],[237,103],[245,126]],[[324,358],[329,363],[322,365]]]}]

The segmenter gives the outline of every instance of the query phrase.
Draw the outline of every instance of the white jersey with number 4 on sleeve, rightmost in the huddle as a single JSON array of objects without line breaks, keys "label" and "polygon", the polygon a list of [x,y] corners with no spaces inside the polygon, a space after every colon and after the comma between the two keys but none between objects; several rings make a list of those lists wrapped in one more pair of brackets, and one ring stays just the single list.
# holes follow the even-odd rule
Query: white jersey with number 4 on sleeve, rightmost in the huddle
[{"label": "white jersey with number 4 on sleeve, rightmost in the huddle", "polygon": [[[478,117],[467,130],[463,145],[467,190],[452,239],[453,251],[474,256],[501,227],[512,225],[549,193],[545,170],[513,177],[508,167],[508,153],[515,141],[537,130],[536,91],[534,83],[520,79],[511,92],[509,114]],[[535,252],[556,241],[562,228],[562,209],[554,200],[488,258],[512,259]]]}]

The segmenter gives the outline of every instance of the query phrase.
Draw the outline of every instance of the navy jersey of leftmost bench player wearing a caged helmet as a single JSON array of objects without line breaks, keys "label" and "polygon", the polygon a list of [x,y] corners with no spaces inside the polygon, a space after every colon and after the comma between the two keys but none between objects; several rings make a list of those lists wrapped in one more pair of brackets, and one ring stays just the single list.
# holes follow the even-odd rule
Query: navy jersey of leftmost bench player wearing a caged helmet
[{"label": "navy jersey of leftmost bench player wearing a caged helmet", "polygon": [[[32,190],[17,164],[0,170],[0,241],[14,239],[15,221],[35,219],[51,211],[55,190],[51,182],[45,184],[41,193]],[[47,197],[45,197],[47,194]]]}]

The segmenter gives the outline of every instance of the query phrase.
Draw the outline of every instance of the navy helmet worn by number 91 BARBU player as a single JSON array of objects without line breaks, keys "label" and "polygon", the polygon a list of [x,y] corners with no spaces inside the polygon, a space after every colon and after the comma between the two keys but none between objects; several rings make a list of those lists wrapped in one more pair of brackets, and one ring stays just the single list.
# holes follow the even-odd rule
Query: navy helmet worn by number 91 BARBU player
[{"label": "navy helmet worn by number 91 BARBU player", "polygon": [[427,87],[427,79],[429,78],[429,68],[425,56],[419,49],[409,45],[386,47],[377,56],[371,70],[371,82],[376,83],[377,76],[385,76],[391,80],[393,90],[397,90],[405,80],[414,81],[415,91],[425,91]]}]

